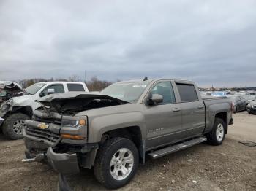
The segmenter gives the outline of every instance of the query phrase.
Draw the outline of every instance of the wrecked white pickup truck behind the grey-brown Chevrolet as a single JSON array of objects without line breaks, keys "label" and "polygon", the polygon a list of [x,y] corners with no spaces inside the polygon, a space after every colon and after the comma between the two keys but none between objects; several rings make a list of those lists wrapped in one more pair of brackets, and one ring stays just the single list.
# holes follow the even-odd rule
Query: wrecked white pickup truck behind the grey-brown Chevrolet
[{"label": "wrecked white pickup truck behind the grey-brown Chevrolet", "polygon": [[[88,92],[83,82],[39,82],[23,90],[15,83],[2,83],[0,103],[0,128],[9,139],[22,139],[25,120],[31,119],[33,111],[41,105],[35,100],[53,93],[69,91]],[[5,94],[4,94],[5,93]],[[16,95],[17,94],[17,95]]]}]

